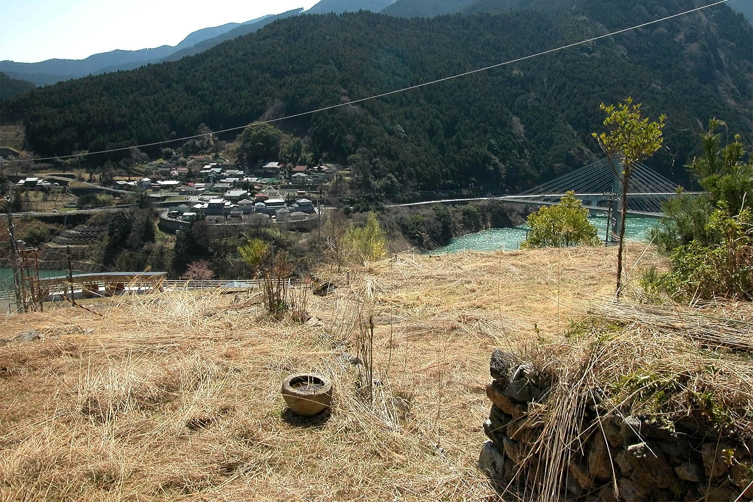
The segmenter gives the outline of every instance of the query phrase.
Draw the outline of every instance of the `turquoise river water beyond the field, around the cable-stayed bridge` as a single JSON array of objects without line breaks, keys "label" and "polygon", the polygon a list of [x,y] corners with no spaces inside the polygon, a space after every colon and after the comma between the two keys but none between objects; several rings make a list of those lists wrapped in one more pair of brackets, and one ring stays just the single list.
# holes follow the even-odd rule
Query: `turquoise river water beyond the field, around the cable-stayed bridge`
[{"label": "turquoise river water beyond the field, around the cable-stayed bridge", "polygon": [[[599,237],[604,239],[606,233],[606,218],[591,217],[588,220],[599,228]],[[657,218],[628,217],[625,223],[625,239],[632,241],[648,241],[648,232],[656,226]],[[499,251],[505,249],[514,251],[520,249],[520,243],[526,239],[525,227],[492,228],[483,232],[471,233],[457,237],[444,248],[437,248],[428,254],[451,254],[463,251]]]}]

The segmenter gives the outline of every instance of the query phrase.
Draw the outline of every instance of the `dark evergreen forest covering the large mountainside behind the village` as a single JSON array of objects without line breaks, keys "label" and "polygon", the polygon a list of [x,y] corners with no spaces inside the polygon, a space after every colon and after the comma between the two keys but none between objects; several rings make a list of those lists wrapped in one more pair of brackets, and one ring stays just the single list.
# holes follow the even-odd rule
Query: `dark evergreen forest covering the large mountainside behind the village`
[{"label": "dark evergreen forest covering the large mountainside behind the village", "polygon": [[[490,11],[510,5],[484,2]],[[351,102],[695,5],[581,0],[556,16],[292,17],[176,62],[33,90],[4,102],[0,112],[6,123],[26,125],[27,147],[43,156],[166,141],[194,134],[201,123],[216,131]],[[751,26],[721,5],[276,126],[305,137],[316,158],[358,166],[366,190],[395,179],[402,187],[518,190],[593,160],[599,103],[633,96],[648,114],[669,117],[667,149],[655,161],[680,176],[711,117],[751,142],[751,46]]]}]

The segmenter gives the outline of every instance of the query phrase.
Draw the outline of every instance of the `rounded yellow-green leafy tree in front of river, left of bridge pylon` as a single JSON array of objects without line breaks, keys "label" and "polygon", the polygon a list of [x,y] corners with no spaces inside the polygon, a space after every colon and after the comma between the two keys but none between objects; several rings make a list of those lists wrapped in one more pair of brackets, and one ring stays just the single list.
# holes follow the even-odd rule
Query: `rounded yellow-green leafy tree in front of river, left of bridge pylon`
[{"label": "rounded yellow-green leafy tree in front of river, left of bridge pylon", "polygon": [[601,243],[599,232],[588,221],[588,209],[584,208],[575,192],[568,192],[557,205],[544,205],[529,215],[531,231],[521,248],[546,248],[562,246],[596,246]]}]

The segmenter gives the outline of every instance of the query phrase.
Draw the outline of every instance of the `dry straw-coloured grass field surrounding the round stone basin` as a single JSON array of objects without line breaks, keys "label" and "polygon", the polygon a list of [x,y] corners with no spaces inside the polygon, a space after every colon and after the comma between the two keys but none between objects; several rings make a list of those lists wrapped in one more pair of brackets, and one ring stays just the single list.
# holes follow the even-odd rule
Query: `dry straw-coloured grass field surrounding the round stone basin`
[{"label": "dry straw-coloured grass field surrounding the round stone basin", "polygon": [[[305,324],[258,295],[184,292],[5,318],[0,337],[42,339],[0,347],[0,500],[496,500],[475,467],[489,354],[561,342],[613,291],[615,251],[324,267],[338,288],[308,297]],[[626,263],[635,284],[663,262],[630,245]],[[369,318],[373,405],[343,354]],[[285,408],[303,371],[332,380],[329,415]]]}]

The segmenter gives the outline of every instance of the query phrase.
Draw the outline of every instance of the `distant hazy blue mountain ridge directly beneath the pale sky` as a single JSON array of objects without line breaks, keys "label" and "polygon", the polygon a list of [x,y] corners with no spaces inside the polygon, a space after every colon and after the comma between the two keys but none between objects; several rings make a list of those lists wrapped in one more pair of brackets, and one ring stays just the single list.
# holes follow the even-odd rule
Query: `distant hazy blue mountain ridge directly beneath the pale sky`
[{"label": "distant hazy blue mountain ridge directly beneath the pale sky", "polygon": [[[203,44],[203,49],[201,50],[206,50],[209,47],[214,47],[222,41],[254,32],[277,18],[272,17],[273,19],[264,23],[269,17],[272,16],[259,17],[255,20],[246,21],[245,23],[227,23],[222,26],[215,26],[214,28],[200,29],[188,35],[174,47],[163,45],[154,49],[111,50],[106,53],[94,54],[86,59],[47,59],[47,61],[42,62],[2,61],[0,62],[0,66],[2,66],[3,71],[12,78],[31,81],[37,85],[55,84],[56,82],[69,80],[70,78],[96,75],[99,73],[105,73],[106,71],[139,68],[139,66],[146,65],[149,62],[159,62],[166,59],[171,54],[183,51],[185,51],[184,55],[187,55],[189,50],[191,50],[191,47],[194,47],[196,44]],[[248,28],[248,26],[254,27]],[[245,31],[239,31],[236,35],[230,36],[230,38],[218,38],[227,32],[239,28],[245,28]],[[214,44],[208,45],[204,43],[212,38],[216,39]],[[195,54],[198,52],[200,52],[200,50],[190,53]]]}]

